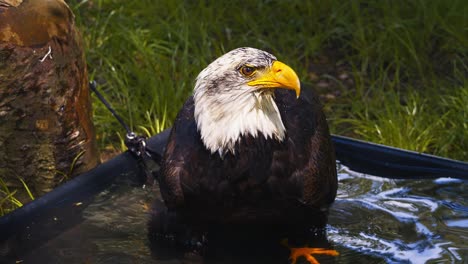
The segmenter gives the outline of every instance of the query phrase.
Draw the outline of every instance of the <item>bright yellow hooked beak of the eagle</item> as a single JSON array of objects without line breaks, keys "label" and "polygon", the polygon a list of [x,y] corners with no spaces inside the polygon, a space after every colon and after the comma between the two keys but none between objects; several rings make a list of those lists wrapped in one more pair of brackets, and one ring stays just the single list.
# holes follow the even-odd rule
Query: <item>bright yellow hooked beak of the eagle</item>
[{"label": "bright yellow hooked beak of the eagle", "polygon": [[299,77],[291,67],[275,61],[269,70],[259,72],[258,77],[247,83],[250,86],[261,88],[286,88],[296,91],[296,97],[301,94]]}]

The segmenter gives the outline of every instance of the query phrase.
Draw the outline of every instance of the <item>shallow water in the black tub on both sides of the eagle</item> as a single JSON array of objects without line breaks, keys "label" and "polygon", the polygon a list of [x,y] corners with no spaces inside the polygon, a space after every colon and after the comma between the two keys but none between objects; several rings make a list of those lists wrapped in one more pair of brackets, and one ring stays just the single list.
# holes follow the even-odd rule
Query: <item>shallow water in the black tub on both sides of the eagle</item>
[{"label": "shallow water in the black tub on both sides of the eagle", "polygon": [[[340,255],[323,263],[467,263],[468,181],[449,176],[395,180],[340,167],[338,197],[327,226],[328,241]],[[147,223],[156,196],[151,189],[116,184],[94,199],[79,224],[20,260],[191,262],[153,256]]]}]

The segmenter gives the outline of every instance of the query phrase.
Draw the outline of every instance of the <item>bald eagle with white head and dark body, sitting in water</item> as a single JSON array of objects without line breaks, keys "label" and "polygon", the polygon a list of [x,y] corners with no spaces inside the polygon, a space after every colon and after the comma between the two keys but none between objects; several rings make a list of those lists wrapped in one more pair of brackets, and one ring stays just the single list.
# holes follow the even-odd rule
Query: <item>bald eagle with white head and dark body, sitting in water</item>
[{"label": "bald eagle with white head and dark body, sitting in water", "polygon": [[238,48],[209,64],[174,122],[160,190],[185,223],[324,225],[337,191],[317,97],[272,54]]}]

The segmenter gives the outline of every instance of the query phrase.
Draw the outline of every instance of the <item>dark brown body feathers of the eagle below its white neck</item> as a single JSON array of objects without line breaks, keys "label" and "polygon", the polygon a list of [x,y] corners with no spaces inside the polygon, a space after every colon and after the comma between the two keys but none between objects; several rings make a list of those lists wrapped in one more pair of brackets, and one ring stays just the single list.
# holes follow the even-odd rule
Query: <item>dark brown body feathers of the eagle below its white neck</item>
[{"label": "dark brown body feathers of the eagle below its white neck", "polygon": [[[312,91],[296,99],[275,90],[286,128],[283,142],[244,136],[236,153],[211,154],[200,139],[193,98],[179,112],[162,162],[161,193],[169,210],[211,224],[312,223],[334,201],[335,154]],[[324,224],[324,223],[321,223]]]}]

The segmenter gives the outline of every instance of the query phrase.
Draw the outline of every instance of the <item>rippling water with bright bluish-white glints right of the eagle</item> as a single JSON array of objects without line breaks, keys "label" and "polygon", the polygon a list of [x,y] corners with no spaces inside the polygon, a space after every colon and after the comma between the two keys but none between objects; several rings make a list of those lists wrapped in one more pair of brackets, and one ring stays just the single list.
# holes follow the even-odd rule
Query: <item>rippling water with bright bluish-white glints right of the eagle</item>
[{"label": "rippling water with bright bluish-white glints right of the eagle", "polygon": [[388,263],[466,260],[465,183],[394,180],[342,167],[328,237],[344,255],[361,252]]}]

